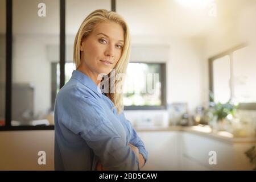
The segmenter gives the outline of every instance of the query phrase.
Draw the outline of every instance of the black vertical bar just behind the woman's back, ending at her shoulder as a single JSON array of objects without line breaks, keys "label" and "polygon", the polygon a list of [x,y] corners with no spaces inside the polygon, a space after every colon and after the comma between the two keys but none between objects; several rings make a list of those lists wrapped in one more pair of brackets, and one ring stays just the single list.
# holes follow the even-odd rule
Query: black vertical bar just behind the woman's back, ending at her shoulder
[{"label": "black vertical bar just behind the woman's back, ending at her shoulder", "polygon": [[60,0],[60,88],[65,84],[65,0]]}]

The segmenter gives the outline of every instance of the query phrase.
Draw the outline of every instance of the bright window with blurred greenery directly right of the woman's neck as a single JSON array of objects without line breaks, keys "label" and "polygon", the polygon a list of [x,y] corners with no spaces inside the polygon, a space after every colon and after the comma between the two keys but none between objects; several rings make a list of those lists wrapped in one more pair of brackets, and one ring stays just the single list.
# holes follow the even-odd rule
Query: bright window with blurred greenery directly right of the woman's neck
[{"label": "bright window with blurred greenery directly right of the woman's neck", "polygon": [[129,63],[123,85],[125,109],[166,107],[165,64]]}]

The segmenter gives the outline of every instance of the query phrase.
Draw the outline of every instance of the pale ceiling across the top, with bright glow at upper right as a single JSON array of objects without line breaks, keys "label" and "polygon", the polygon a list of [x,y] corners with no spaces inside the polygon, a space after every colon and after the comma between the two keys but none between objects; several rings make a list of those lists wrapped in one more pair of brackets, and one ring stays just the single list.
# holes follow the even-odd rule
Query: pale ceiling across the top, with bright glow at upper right
[{"label": "pale ceiling across the top, with bright glow at upper right", "polygon": [[[185,6],[185,1],[209,1],[202,6]],[[44,0],[46,17],[38,16],[41,0],[13,0],[14,34],[59,35],[59,0]],[[186,2],[185,2],[186,3]],[[194,4],[195,4],[194,3]],[[216,11],[213,11],[216,3]],[[238,15],[256,0],[116,0],[117,13],[138,36],[207,36],[234,27]],[[75,35],[80,23],[96,9],[110,10],[110,0],[66,0],[66,34]],[[212,14],[216,12],[216,16]],[[5,0],[0,0],[0,33],[5,32]]]}]

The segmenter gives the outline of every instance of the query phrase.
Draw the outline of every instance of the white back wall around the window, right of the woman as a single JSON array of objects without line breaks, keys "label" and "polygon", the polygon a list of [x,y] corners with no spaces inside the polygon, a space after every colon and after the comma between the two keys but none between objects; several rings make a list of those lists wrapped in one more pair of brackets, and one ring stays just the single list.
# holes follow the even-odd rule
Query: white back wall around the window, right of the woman
[{"label": "white back wall around the window, right of the woman", "polygon": [[[208,88],[204,86],[204,48],[201,38],[174,38],[167,36],[133,36],[134,49],[131,52],[131,60],[143,60],[147,62],[160,62],[167,64],[167,104],[174,102],[187,102],[190,113],[195,111],[196,106],[205,105],[208,101]],[[144,49],[136,49],[138,47]],[[155,47],[152,51],[147,46]],[[167,53],[167,49],[169,49]],[[134,54],[134,52],[136,54]],[[149,53],[148,53],[149,52]],[[143,55],[143,56],[142,56]],[[145,57],[147,59],[145,59]],[[152,58],[154,57],[154,58]],[[205,99],[207,98],[207,99]],[[152,111],[125,111],[126,117],[131,122],[138,118],[151,117]],[[147,114],[145,114],[147,113]],[[157,110],[153,113],[163,115],[166,110]],[[154,118],[153,118],[154,120]],[[166,121],[163,121],[166,123]]]}]

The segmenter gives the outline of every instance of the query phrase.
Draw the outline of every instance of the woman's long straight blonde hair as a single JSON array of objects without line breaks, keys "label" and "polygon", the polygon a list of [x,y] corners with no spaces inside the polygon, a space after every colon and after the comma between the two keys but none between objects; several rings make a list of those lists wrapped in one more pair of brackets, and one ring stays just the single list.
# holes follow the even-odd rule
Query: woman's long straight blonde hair
[{"label": "woman's long straight blonde hair", "polygon": [[[110,79],[114,79],[113,85],[110,84],[110,79],[109,79],[109,85],[112,85],[112,87],[114,86],[115,90],[119,90],[119,91],[114,93],[110,92],[110,89],[113,90],[113,88],[110,86],[109,92],[106,93],[106,96],[110,98],[114,106],[117,108],[118,113],[120,113],[123,110],[122,84],[124,80],[123,79],[120,80],[118,75],[120,75],[119,73],[126,73],[127,65],[130,59],[130,50],[131,50],[130,31],[125,20],[119,14],[113,11],[108,11],[104,9],[95,10],[92,13],[90,13],[84,19],[84,21],[82,22],[79,28],[79,31],[76,34],[74,50],[73,50],[73,61],[77,69],[81,63],[81,51],[80,51],[81,41],[93,31],[93,28],[96,26],[96,24],[102,23],[102,22],[118,23],[122,26],[123,31],[125,32],[125,42],[122,49],[122,56],[118,60],[117,64],[115,64],[115,67],[113,69],[115,73],[114,74],[115,78],[110,78],[111,72],[108,75]],[[112,76],[113,76],[113,73],[112,73]]]}]

